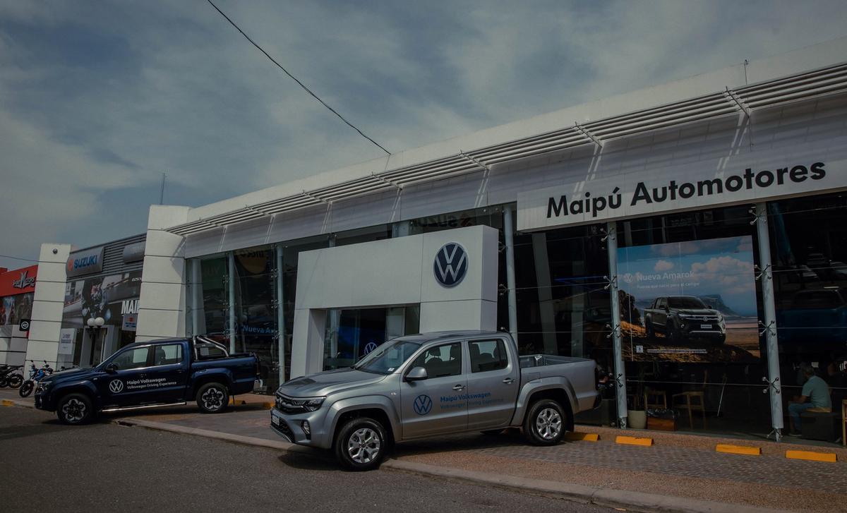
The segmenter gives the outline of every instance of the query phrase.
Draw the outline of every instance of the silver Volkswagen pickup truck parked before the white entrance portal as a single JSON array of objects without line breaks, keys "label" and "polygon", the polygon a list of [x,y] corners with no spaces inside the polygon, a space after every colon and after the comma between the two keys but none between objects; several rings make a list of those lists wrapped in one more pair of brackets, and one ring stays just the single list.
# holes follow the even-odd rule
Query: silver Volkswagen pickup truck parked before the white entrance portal
[{"label": "silver Volkswagen pickup truck parked before the white entrance portal", "polygon": [[445,434],[523,428],[551,445],[600,400],[595,362],[518,356],[505,333],[407,335],[353,367],[280,386],[271,428],[295,444],[332,449],[351,470],[379,466],[390,444]]}]

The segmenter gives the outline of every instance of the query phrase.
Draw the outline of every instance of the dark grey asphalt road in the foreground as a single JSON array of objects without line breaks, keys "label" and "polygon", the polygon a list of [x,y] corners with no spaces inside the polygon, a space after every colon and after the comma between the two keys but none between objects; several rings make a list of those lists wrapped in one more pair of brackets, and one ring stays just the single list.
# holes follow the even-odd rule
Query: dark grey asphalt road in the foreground
[{"label": "dark grey asphalt road in the foreground", "polygon": [[106,422],[0,407],[3,511],[609,511]]}]

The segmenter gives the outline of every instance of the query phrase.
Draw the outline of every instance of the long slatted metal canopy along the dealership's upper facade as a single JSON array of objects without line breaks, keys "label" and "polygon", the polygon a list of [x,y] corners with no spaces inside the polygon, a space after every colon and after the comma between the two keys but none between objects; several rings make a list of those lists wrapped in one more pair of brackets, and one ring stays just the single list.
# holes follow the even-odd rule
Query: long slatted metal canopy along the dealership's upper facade
[{"label": "long slatted metal canopy along the dealership's upper facade", "polygon": [[407,185],[482,171],[492,164],[535,157],[576,146],[589,144],[602,146],[604,141],[619,137],[643,134],[705,119],[715,119],[732,113],[744,112],[750,115],[751,111],[759,108],[771,108],[781,104],[844,92],[847,92],[847,63],[840,63],[780,79],[745,85],[732,90],[727,88],[726,91],[590,121],[585,124],[575,124],[561,130],[485,146],[469,152],[460,151],[448,157],[372,173],[361,178],[314,190],[303,190],[291,196],[264,201],[255,205],[246,205],[231,212],[180,224],[169,228],[167,231],[182,236],[198,234],[301,208],[366,196],[385,190],[401,190]]}]

